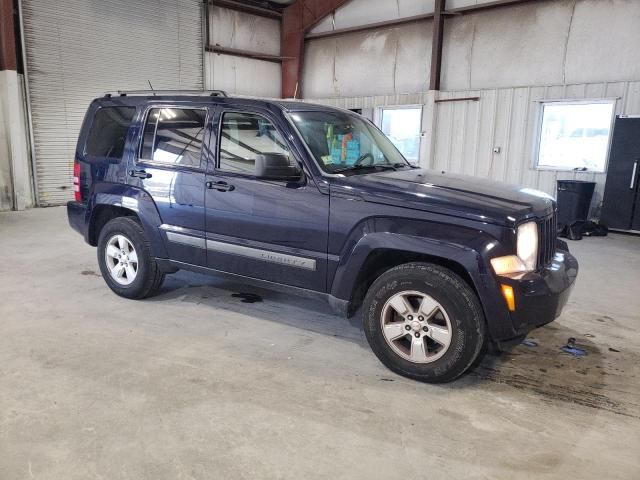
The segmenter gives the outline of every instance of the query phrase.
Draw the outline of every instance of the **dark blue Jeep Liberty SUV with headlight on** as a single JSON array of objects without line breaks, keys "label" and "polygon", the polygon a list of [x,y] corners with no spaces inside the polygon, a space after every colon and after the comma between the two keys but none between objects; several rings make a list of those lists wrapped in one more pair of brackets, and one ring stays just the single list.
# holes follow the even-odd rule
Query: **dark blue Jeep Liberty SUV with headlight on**
[{"label": "dark blue Jeep Liberty SUV with headlight on", "polygon": [[578,272],[548,195],[418,168],[363,117],[301,102],[107,94],[74,189],[69,222],[118,295],[179,269],[317,294],[427,382],[551,322]]}]

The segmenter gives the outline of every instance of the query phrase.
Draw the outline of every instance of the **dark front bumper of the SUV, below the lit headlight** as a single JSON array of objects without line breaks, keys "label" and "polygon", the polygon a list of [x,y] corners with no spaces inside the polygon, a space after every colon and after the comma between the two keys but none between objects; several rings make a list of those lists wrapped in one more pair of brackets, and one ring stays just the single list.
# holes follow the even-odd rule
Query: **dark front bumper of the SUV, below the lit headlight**
[{"label": "dark front bumper of the SUV, below the lit headlight", "polygon": [[553,261],[540,272],[517,278],[499,277],[515,293],[515,311],[509,312],[513,327],[510,338],[495,339],[499,346],[517,343],[534,328],[555,320],[569,300],[578,276],[578,261],[568,251],[558,250]]}]

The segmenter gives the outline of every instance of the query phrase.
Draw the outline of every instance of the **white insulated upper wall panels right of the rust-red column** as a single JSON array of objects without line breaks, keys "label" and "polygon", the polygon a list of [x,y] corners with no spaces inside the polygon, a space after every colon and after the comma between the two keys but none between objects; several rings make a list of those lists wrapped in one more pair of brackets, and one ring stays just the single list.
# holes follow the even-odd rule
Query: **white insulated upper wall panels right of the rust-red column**
[{"label": "white insulated upper wall panels right of the rust-red column", "polygon": [[[447,0],[448,8],[455,5],[452,1]],[[386,7],[376,10],[381,3]],[[380,12],[396,18],[418,6],[414,0],[352,0],[336,12],[336,27],[380,20]],[[441,87],[477,90],[640,80],[640,49],[633,48],[640,45],[638,25],[638,0],[538,0],[447,16]],[[431,29],[432,21],[422,20],[308,40],[304,95],[426,90]]]}]

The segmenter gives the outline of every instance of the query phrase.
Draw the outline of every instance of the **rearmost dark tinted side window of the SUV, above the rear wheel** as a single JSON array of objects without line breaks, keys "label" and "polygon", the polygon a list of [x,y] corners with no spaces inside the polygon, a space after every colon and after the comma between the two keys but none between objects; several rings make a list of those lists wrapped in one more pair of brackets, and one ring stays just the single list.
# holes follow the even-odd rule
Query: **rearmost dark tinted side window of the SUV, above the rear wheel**
[{"label": "rearmost dark tinted side window of the SUV, above the rear wheel", "polygon": [[105,107],[93,117],[84,148],[85,155],[103,158],[122,158],[129,125],[135,107]]}]

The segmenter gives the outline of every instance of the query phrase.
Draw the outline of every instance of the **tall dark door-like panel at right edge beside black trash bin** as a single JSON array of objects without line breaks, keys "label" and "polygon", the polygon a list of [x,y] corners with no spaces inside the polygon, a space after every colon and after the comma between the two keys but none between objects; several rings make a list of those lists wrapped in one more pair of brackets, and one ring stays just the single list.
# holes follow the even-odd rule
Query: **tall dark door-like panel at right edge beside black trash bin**
[{"label": "tall dark door-like panel at right edge beside black trash bin", "polygon": [[640,230],[638,175],[640,118],[616,118],[607,168],[602,222],[609,228]]}]

